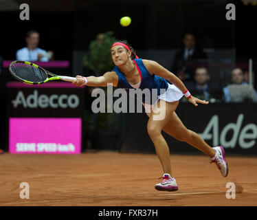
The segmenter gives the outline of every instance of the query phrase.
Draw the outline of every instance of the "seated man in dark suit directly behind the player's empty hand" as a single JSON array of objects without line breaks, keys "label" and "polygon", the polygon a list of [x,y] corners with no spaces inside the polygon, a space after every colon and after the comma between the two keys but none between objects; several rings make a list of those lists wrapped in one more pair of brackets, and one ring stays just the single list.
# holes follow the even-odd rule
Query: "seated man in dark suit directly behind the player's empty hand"
[{"label": "seated man in dark suit directly behind the player's empty hand", "polygon": [[220,89],[210,84],[210,75],[206,67],[197,67],[194,71],[194,81],[186,82],[185,85],[194,97],[210,102],[219,102],[222,98]]}]

